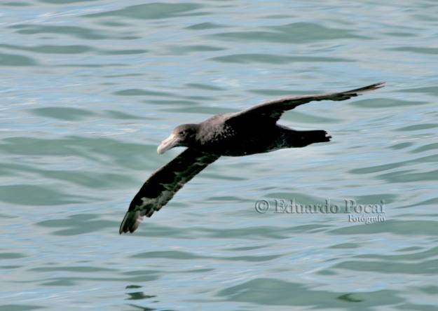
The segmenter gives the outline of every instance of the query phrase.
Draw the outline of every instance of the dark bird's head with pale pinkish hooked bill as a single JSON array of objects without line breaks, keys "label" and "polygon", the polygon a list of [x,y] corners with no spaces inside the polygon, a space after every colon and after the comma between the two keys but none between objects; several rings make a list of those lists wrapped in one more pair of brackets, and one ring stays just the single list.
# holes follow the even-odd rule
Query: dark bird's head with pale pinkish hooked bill
[{"label": "dark bird's head with pale pinkish hooked bill", "polygon": [[198,124],[183,124],[175,127],[165,140],[161,141],[158,146],[158,154],[163,154],[173,147],[189,147],[196,141],[196,134],[198,133]]}]

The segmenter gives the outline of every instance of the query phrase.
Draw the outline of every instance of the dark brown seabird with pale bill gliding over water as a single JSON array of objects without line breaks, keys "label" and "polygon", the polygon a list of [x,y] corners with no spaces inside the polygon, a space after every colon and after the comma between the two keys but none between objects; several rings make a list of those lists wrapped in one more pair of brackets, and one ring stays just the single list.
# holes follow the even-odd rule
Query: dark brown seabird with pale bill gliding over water
[{"label": "dark brown seabird with pale bill gliding over water", "polygon": [[293,130],[277,121],[283,113],[308,102],[341,101],[362,92],[383,88],[384,82],[364,88],[321,95],[283,97],[262,102],[234,113],[220,113],[199,124],[175,127],[158,146],[158,154],[174,147],[186,147],[169,163],[151,174],[132,199],[119,233],[133,233],[143,221],[169,202],[184,184],[221,156],[267,153],[282,148],[301,148],[330,141],[324,130]]}]

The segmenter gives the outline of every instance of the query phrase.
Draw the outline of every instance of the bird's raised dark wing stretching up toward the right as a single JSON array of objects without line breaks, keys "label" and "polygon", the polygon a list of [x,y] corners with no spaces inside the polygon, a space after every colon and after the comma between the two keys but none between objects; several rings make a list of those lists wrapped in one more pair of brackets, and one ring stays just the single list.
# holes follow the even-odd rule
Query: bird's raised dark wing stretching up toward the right
[{"label": "bird's raised dark wing stretching up toward the right", "polygon": [[254,122],[264,120],[264,122],[276,123],[282,114],[294,109],[296,106],[306,104],[308,102],[320,101],[320,100],[345,100],[360,95],[361,92],[369,92],[371,90],[377,90],[383,88],[383,83],[375,83],[368,85],[364,88],[357,88],[355,90],[349,90],[345,92],[334,92],[320,95],[304,95],[296,97],[283,97],[280,99],[270,100],[268,102],[262,102],[249,109],[245,109],[238,113],[233,113],[229,116],[225,122],[228,124],[241,123],[244,120],[253,120]]}]

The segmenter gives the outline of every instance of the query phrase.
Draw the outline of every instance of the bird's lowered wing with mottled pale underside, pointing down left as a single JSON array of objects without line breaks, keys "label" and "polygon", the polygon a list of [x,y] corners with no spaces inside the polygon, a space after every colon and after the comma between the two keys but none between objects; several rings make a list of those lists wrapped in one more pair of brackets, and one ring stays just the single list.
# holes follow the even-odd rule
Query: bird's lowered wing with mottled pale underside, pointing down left
[{"label": "bird's lowered wing with mottled pale underside, pointing down left", "polygon": [[128,231],[133,233],[144,216],[150,217],[153,212],[166,205],[186,182],[218,158],[218,155],[187,148],[172,161],[153,172],[132,199],[119,233]]}]

